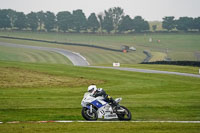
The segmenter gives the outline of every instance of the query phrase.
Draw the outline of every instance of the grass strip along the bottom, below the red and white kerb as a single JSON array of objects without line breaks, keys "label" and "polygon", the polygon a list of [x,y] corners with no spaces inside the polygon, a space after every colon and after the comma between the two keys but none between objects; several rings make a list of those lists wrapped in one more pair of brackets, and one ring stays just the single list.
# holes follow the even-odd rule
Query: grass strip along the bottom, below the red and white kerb
[{"label": "grass strip along the bottom, below the red and white kerb", "polygon": [[22,123],[0,124],[1,133],[199,133],[199,124],[184,123]]}]

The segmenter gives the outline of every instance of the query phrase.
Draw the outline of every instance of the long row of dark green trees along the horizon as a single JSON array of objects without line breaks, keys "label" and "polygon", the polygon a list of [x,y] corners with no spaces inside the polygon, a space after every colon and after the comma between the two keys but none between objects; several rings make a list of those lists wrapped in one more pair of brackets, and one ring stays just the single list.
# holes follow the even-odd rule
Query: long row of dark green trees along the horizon
[{"label": "long row of dark green trees along the horizon", "polygon": [[[165,17],[162,26],[168,31],[174,29],[200,31],[200,17],[180,17],[178,20],[175,20],[173,16]],[[156,30],[157,26],[153,25],[152,28]],[[109,8],[98,15],[91,13],[88,18],[81,9],[73,12],[61,11],[57,14],[50,11],[24,14],[12,9],[0,9],[0,29],[125,33],[148,32],[150,25],[141,16],[131,18],[129,15],[125,15],[124,10],[120,7]]]}]

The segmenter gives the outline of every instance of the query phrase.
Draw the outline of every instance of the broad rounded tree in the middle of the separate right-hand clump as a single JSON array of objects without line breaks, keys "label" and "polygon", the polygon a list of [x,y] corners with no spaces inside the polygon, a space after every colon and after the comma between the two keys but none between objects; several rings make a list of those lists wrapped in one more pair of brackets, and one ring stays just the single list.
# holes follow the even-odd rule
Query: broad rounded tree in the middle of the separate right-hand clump
[{"label": "broad rounded tree in the middle of the separate right-hand clump", "polygon": [[180,17],[176,21],[176,28],[182,31],[188,31],[189,29],[193,29],[194,21],[193,18],[190,17]]}]

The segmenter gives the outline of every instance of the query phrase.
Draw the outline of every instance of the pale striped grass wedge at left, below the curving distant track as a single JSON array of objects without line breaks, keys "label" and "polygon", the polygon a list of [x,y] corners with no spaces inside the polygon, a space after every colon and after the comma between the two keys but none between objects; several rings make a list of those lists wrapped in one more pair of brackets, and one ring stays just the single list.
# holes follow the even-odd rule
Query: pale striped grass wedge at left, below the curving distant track
[{"label": "pale striped grass wedge at left, below the curving distant track", "polygon": [[0,60],[72,65],[68,58],[55,52],[33,50],[28,48],[7,47],[1,45]]}]

